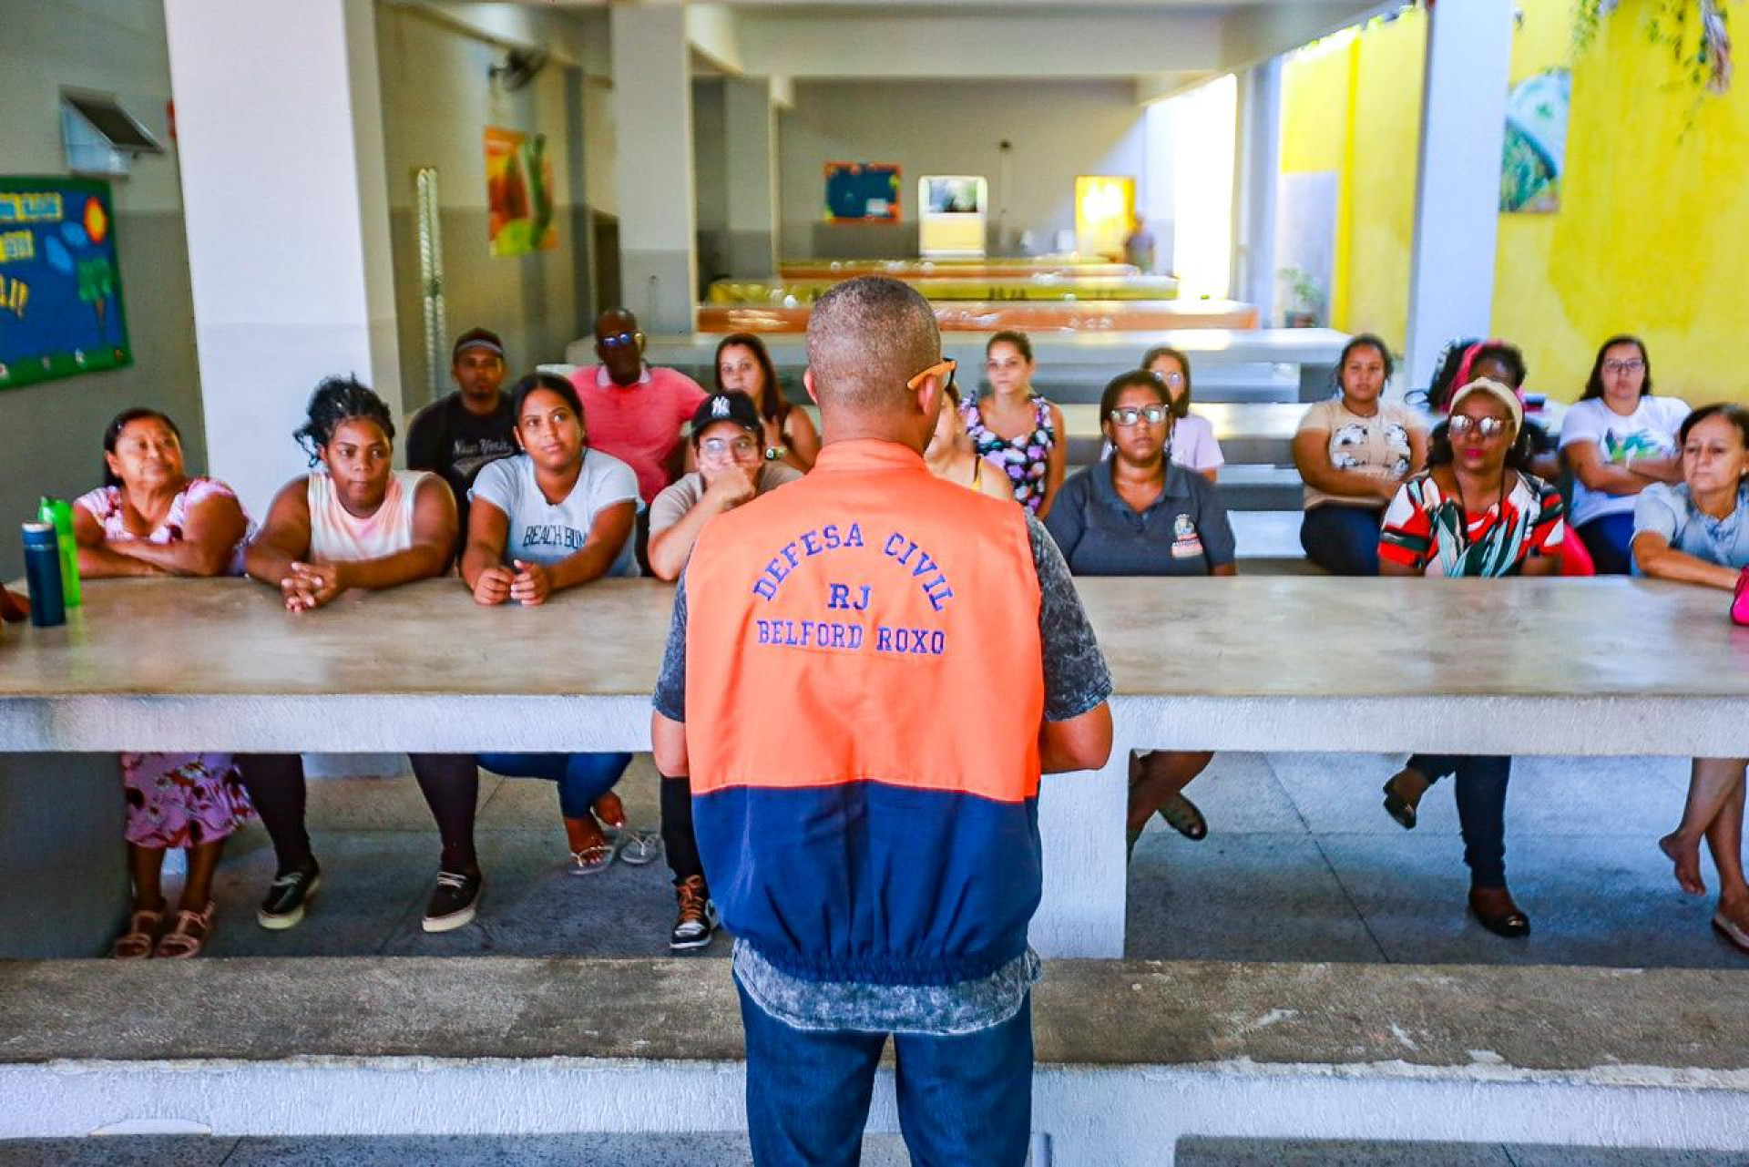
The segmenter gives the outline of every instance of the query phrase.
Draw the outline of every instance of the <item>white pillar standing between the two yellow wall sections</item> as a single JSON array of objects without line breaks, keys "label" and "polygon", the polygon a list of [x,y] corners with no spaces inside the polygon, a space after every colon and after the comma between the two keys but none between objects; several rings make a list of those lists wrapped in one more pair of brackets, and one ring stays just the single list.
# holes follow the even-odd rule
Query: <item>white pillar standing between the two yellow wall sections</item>
[{"label": "white pillar standing between the two yellow wall sections", "polygon": [[1432,380],[1453,336],[1487,336],[1501,215],[1501,149],[1513,47],[1511,0],[1441,3],[1427,21],[1408,385]]}]

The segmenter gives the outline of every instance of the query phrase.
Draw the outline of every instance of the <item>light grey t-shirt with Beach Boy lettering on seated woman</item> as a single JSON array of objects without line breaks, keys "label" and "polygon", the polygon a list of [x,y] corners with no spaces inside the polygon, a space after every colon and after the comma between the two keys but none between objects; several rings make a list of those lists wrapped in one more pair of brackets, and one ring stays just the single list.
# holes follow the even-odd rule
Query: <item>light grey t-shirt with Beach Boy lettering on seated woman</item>
[{"label": "light grey t-shirt with Beach Boy lettering on seated woman", "polygon": [[[504,562],[523,560],[551,567],[570,558],[589,539],[596,516],[616,502],[638,499],[638,476],[610,453],[589,450],[582,455],[582,472],[563,502],[547,502],[535,483],[535,464],[526,453],[498,458],[481,467],[469,500],[483,500],[511,520],[504,541]],[[614,556],[609,576],[637,576],[638,562],[631,539]]]}]

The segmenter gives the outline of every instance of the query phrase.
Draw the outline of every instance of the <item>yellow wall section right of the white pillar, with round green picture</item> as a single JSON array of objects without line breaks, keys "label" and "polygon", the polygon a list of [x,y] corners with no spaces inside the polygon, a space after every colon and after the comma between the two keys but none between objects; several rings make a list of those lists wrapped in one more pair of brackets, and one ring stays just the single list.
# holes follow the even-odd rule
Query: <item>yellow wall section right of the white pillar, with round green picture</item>
[{"label": "yellow wall section right of the white pillar, with round green picture", "polygon": [[[1606,336],[1639,332],[1658,392],[1746,401],[1749,77],[1697,100],[1646,38],[1653,3],[1623,0],[1574,61],[1560,210],[1501,215],[1494,329],[1551,397],[1578,397]],[[1569,0],[1520,5],[1515,82],[1572,59]]]}]

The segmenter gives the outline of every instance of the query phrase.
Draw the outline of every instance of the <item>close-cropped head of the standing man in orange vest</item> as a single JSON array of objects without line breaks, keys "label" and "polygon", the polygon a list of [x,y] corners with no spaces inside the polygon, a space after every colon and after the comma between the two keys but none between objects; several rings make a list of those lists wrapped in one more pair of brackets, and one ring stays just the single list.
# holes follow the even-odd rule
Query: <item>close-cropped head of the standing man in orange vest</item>
[{"label": "close-cropped head of the standing man in orange vest", "polygon": [[813,301],[808,371],[822,413],[906,415],[916,402],[904,383],[937,360],[936,313],[908,283],[859,276]]}]

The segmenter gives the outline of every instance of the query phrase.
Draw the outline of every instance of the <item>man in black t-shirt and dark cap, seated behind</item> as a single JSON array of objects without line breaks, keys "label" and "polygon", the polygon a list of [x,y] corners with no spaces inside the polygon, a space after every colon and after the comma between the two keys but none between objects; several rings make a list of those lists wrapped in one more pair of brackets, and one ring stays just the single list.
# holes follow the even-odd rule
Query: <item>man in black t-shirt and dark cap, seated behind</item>
[{"label": "man in black t-shirt and dark cap, seated behind", "polygon": [[408,469],[442,474],[462,516],[456,548],[467,546],[467,490],[479,467],[516,453],[511,399],[504,385],[504,341],[497,332],[469,329],[449,353],[449,376],[460,387],[439,397],[408,427]]}]

